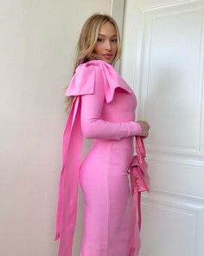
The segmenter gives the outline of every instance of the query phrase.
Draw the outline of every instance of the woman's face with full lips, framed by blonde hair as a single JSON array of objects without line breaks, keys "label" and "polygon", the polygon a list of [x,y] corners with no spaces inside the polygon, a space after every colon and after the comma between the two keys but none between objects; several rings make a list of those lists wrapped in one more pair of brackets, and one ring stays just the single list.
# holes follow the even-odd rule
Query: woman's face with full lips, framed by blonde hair
[{"label": "woman's face with full lips, framed by blonde hair", "polygon": [[112,63],[117,54],[117,32],[112,23],[105,23],[99,30],[97,43],[93,52],[105,62]]}]

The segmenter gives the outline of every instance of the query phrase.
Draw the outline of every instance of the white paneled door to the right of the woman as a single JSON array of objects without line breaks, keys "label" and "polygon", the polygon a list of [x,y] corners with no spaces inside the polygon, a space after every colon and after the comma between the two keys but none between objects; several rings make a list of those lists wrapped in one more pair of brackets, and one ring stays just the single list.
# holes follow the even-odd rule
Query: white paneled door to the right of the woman
[{"label": "white paneled door to the right of the woman", "polygon": [[141,256],[204,256],[203,63],[203,0],[125,1],[121,73],[150,123]]}]

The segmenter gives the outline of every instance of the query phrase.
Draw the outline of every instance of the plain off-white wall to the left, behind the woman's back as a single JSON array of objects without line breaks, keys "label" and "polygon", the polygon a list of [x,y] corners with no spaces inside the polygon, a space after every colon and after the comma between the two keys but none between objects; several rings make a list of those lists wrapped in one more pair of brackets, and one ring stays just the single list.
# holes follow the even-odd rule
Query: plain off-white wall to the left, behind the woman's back
[{"label": "plain off-white wall to the left, behind the woman's back", "polygon": [[[64,89],[86,17],[111,10],[110,0],[0,2],[3,256],[57,254],[54,225],[66,117]],[[79,255],[79,243],[80,239],[74,255]]]}]

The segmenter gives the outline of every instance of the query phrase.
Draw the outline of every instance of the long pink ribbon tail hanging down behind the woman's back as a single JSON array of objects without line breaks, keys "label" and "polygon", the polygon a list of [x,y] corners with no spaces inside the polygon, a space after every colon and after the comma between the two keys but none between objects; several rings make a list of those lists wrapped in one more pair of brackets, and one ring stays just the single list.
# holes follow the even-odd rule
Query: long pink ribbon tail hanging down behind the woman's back
[{"label": "long pink ribbon tail hanging down behind the woman's back", "polygon": [[83,135],[80,128],[80,97],[75,97],[63,135],[62,169],[58,196],[55,240],[61,239],[59,256],[71,256],[76,224]]}]

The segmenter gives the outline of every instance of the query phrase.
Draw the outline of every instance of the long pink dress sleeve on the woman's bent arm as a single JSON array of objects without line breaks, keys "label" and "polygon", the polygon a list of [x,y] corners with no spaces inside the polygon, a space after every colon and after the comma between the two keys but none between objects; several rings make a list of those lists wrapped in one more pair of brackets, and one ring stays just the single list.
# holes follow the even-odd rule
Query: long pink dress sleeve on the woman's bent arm
[{"label": "long pink dress sleeve on the woman's bent arm", "polygon": [[93,93],[81,95],[81,129],[85,137],[119,141],[125,137],[141,135],[140,125],[136,121],[112,122],[101,119],[105,86],[101,70],[96,68],[94,73]]}]

